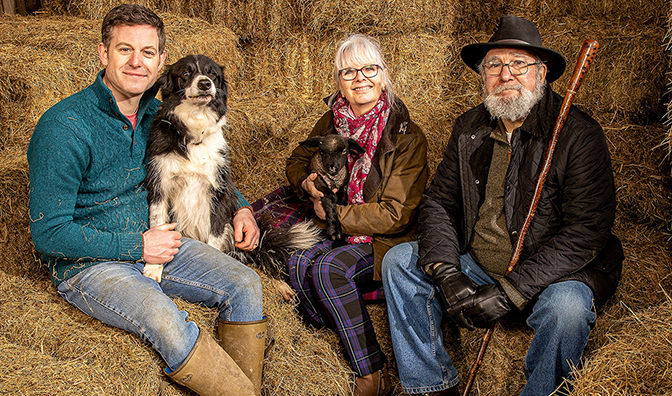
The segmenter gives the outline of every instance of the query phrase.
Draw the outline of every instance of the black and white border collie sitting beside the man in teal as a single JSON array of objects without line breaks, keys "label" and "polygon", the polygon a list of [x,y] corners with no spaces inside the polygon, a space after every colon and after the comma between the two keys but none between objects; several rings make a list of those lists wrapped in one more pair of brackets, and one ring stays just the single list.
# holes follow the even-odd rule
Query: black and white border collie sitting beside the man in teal
[{"label": "black and white border collie sitting beside the man in teal", "polygon": [[[149,226],[176,222],[183,236],[282,279],[286,259],[317,243],[319,229],[308,222],[275,227],[262,216],[257,219],[259,246],[250,252],[235,248],[232,220],[238,198],[222,130],[228,109],[223,67],[207,56],[189,55],[166,66],[157,84],[163,103],[147,146]],[[160,282],[162,270],[162,265],[148,263],[143,273]],[[285,299],[291,298],[288,285],[274,285]]]}]

